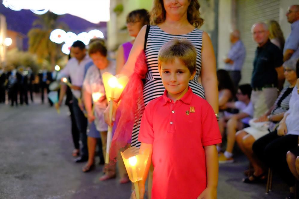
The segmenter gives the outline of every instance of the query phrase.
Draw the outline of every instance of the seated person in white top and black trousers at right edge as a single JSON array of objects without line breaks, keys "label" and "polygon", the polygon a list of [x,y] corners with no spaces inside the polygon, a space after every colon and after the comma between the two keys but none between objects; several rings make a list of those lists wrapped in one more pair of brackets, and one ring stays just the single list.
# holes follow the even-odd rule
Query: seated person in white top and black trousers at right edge
[{"label": "seated person in white top and black trousers at right edge", "polygon": [[[292,61],[292,60],[291,60]],[[296,63],[295,61],[293,61]],[[295,64],[294,64],[295,65]],[[293,68],[286,68],[288,73],[294,73]],[[299,60],[296,63],[297,77],[299,76]],[[295,191],[295,178],[289,170],[286,153],[298,144],[299,135],[299,78],[292,91],[289,110],[284,114],[279,126],[273,132],[264,135],[254,142],[254,154],[265,166],[272,168],[288,184],[290,192]],[[261,165],[265,171],[265,167]],[[255,178],[257,179],[257,178]]]}]

